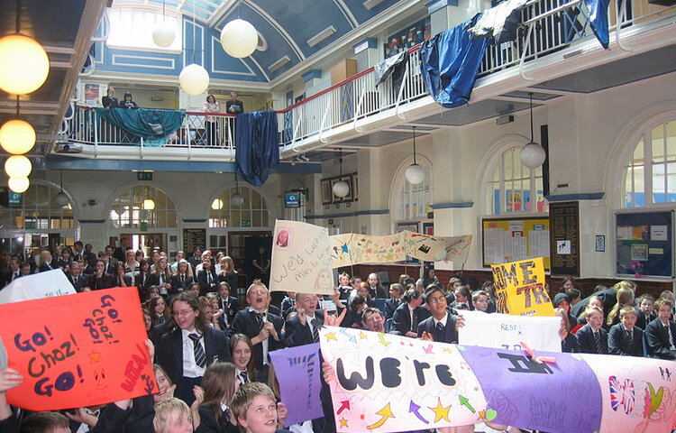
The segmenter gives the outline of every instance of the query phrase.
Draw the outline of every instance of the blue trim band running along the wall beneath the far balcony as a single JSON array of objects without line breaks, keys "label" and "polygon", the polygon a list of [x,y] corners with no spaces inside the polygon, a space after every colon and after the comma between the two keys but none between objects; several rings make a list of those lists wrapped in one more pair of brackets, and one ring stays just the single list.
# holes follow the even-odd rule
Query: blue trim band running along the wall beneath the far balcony
[{"label": "blue trim band running along the wall beneath the far balcony", "polygon": [[[154,171],[198,171],[233,173],[235,164],[224,161],[151,161],[151,160],[90,160],[60,155],[47,155],[40,166],[42,170],[154,170]],[[279,164],[276,173],[321,173],[321,163]]]}]

